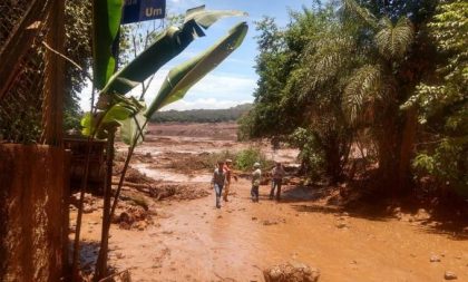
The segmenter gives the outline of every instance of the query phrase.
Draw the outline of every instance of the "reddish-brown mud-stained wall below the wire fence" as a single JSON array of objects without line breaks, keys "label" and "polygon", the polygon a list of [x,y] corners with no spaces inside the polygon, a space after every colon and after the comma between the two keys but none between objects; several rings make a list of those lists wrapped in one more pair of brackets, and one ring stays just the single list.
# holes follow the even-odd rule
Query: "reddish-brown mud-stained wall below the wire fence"
[{"label": "reddish-brown mud-stained wall below the wire fence", "polygon": [[60,281],[68,222],[67,155],[0,145],[0,281]]}]

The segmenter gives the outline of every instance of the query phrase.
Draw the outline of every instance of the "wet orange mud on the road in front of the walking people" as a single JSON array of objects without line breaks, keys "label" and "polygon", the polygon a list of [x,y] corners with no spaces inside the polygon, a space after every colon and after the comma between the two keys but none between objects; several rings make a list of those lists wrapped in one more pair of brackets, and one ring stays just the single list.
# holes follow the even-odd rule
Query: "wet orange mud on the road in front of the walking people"
[{"label": "wet orange mud on the road in front of the walking people", "polygon": [[[240,181],[221,210],[214,196],[164,203],[147,231],[113,230],[111,263],[135,268],[135,281],[263,281],[260,269],[291,259],[318,266],[320,281],[442,281],[447,270],[468,281],[466,241],[393,220],[350,217],[339,228],[333,210],[274,203],[266,193],[251,203]],[[432,254],[442,261],[430,263]]]}]

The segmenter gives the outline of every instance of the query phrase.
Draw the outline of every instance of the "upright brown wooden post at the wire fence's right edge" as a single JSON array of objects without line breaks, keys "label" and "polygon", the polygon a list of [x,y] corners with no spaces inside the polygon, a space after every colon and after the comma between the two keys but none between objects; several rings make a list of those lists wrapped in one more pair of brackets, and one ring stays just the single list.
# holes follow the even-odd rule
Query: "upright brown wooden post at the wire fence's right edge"
[{"label": "upright brown wooden post at the wire fence's right edge", "polygon": [[[65,1],[51,0],[47,21],[47,43],[60,54],[65,49]],[[47,49],[42,104],[43,133],[41,142],[52,146],[62,146],[64,139],[64,91],[65,61]]]}]

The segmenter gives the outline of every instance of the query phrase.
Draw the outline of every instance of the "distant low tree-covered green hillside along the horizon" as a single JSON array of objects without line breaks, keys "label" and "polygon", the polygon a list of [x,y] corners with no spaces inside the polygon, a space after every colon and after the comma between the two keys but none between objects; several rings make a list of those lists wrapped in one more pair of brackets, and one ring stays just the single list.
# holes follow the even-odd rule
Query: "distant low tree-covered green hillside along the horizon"
[{"label": "distant low tree-covered green hillside along the horizon", "polygon": [[158,111],[152,117],[155,123],[221,123],[237,120],[252,108],[243,104],[227,109],[191,109]]}]

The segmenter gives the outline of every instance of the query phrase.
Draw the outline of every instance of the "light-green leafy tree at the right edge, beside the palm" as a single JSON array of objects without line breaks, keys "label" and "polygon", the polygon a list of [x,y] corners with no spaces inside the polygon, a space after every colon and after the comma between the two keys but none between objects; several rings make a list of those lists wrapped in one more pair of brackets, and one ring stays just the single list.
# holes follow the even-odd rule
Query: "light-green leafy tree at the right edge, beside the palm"
[{"label": "light-green leafy tree at the right edge, beside the palm", "polygon": [[413,166],[439,187],[468,195],[468,3],[442,2],[429,23],[442,60],[403,105],[417,107],[428,136]]}]

